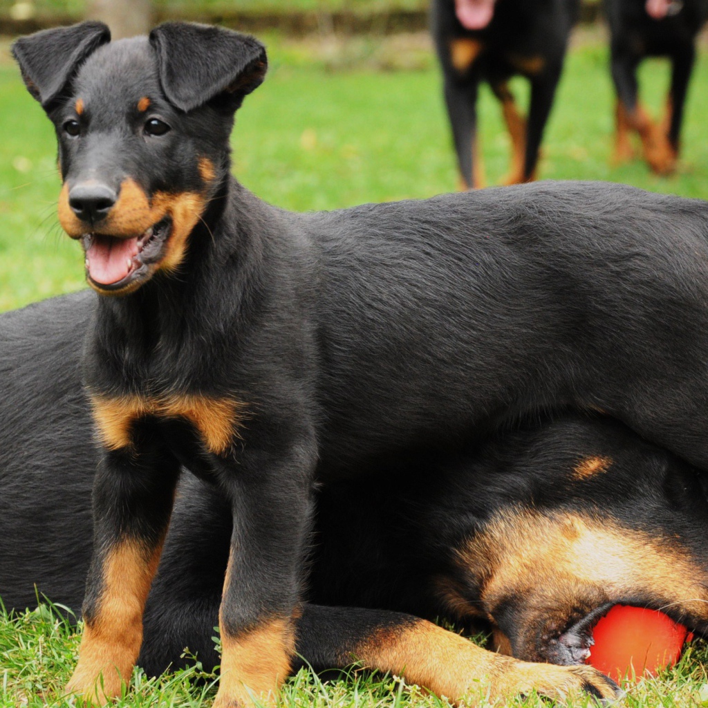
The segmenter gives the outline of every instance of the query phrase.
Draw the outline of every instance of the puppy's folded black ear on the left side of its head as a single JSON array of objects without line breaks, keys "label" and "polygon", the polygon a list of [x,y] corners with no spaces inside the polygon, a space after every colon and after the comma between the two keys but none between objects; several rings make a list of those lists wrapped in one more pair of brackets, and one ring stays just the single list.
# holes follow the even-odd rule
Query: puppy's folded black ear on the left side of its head
[{"label": "puppy's folded black ear on the left side of its head", "polygon": [[84,59],[106,42],[110,42],[106,25],[81,22],[21,37],[12,45],[12,55],[28,91],[47,110]]}]

